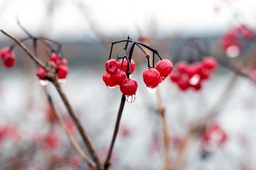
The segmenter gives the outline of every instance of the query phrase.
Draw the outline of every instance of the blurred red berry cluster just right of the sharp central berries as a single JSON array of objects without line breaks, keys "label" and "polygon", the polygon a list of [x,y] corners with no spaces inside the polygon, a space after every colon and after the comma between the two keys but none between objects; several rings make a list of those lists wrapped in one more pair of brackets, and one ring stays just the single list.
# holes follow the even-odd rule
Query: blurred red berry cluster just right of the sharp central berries
[{"label": "blurred red berry cluster just right of the sharp central berries", "polygon": [[170,79],[175,82],[181,90],[185,91],[189,88],[200,90],[202,80],[208,79],[210,73],[217,67],[217,62],[214,57],[205,57],[201,62],[188,64],[179,62],[176,64]]}]

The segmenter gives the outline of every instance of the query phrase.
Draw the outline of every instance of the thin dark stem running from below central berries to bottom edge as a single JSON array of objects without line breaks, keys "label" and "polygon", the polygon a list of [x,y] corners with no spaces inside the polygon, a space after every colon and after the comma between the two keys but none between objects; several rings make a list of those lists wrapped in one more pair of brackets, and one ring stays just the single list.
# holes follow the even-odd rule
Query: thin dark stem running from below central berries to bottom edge
[{"label": "thin dark stem running from below central berries to bottom edge", "polygon": [[114,147],[114,144],[115,144],[115,139],[117,138],[117,132],[118,132],[118,128],[119,128],[119,124],[120,124],[120,120],[121,120],[121,115],[123,113],[125,100],[126,100],[125,95],[122,95],[121,103],[120,103],[118,114],[117,114],[117,121],[116,121],[116,125],[115,125],[114,134],[113,134],[112,141],[111,141],[111,144],[110,144],[110,149],[108,150],[108,156],[107,156],[106,161],[104,163],[104,168],[106,170],[110,166],[110,159],[111,159],[111,155],[112,155],[112,150],[113,150],[113,147]]}]

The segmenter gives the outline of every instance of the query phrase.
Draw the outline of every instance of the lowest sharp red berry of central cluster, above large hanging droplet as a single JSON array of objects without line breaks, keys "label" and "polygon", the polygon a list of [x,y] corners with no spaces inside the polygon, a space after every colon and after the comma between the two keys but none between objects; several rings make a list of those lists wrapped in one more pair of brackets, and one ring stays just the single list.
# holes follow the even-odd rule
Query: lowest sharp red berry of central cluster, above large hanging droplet
[{"label": "lowest sharp red berry of central cluster, above large hanging droplet", "polygon": [[124,95],[135,95],[138,88],[138,84],[135,79],[129,78],[125,79],[124,82],[120,85],[120,91]]}]

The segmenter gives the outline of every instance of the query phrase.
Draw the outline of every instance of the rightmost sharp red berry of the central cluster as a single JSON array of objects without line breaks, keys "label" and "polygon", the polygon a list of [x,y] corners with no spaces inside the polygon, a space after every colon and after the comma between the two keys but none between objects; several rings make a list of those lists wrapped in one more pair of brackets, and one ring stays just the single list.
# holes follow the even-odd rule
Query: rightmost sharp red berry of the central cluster
[{"label": "rightmost sharp red berry of the central cluster", "polygon": [[167,77],[173,70],[173,64],[170,60],[160,60],[157,62],[155,69],[159,71],[161,77]]}]

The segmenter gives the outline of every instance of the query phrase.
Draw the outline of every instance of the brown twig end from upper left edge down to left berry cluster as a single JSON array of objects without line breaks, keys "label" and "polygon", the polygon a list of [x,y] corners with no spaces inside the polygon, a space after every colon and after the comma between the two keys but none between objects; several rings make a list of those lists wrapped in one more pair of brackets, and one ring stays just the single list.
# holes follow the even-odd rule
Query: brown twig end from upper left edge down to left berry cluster
[{"label": "brown twig end from upper left edge down to left berry cluster", "polygon": [[47,68],[47,66],[45,66],[45,64],[43,64],[43,62],[41,62],[33,53],[31,53],[29,51],[29,49],[17,38],[13,37],[12,35],[6,33],[5,31],[3,31],[1,29],[1,32],[4,35],[7,35],[7,37],[11,38],[12,40],[14,40],[28,55],[29,57],[31,57],[32,60],[34,60],[34,62],[36,62],[36,64],[40,65],[41,67],[43,67],[43,69],[45,69],[45,71],[49,71],[49,69]]}]

